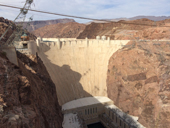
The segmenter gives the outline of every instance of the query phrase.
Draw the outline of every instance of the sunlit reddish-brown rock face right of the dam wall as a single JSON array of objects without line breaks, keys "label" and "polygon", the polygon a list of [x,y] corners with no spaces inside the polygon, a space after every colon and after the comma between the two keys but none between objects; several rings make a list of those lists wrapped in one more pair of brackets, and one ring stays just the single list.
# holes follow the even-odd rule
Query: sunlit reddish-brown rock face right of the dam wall
[{"label": "sunlit reddish-brown rock face right of the dam wall", "polygon": [[109,60],[108,97],[147,128],[169,128],[169,51],[167,42],[133,41]]}]

